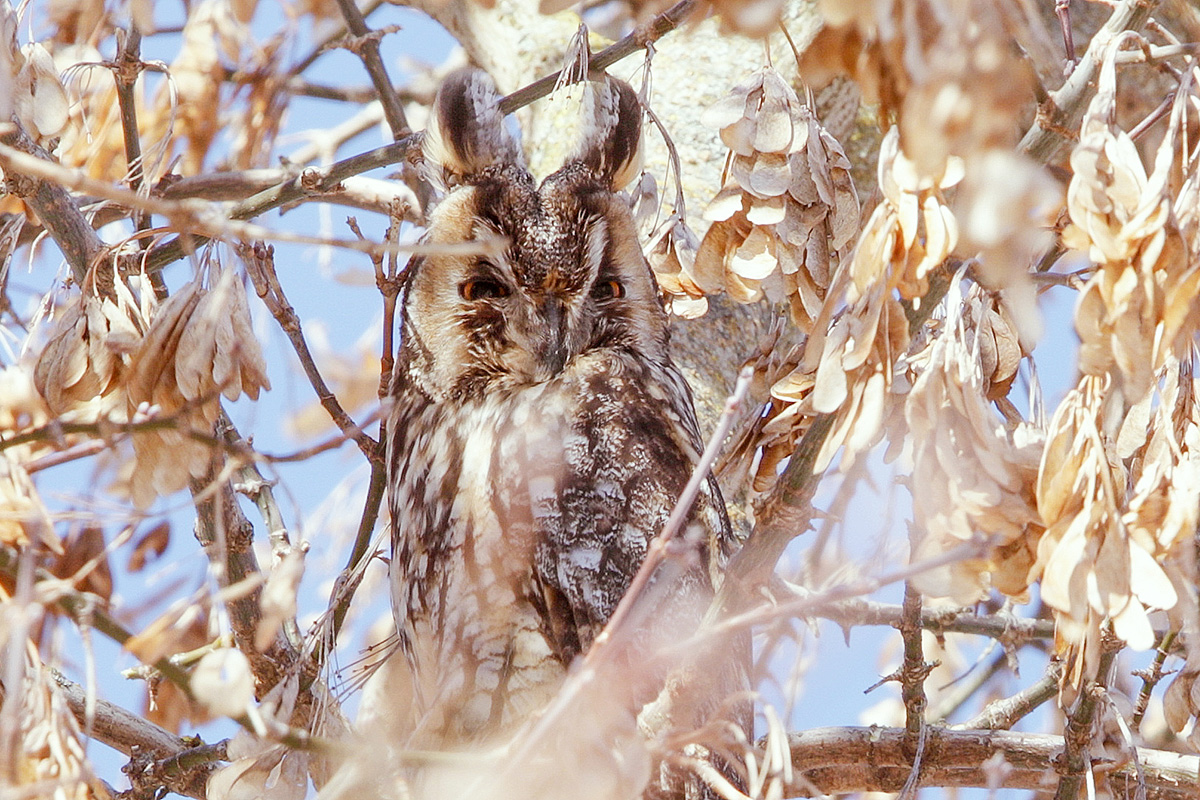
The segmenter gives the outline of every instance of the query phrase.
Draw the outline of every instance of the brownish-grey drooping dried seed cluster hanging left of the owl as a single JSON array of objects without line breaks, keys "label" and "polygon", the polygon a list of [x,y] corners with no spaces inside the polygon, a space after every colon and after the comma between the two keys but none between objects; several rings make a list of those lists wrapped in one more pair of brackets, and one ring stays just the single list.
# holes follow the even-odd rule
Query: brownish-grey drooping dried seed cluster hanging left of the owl
[{"label": "brownish-grey drooping dried seed cluster hanging left of the owl", "polygon": [[217,397],[257,399],[270,389],[250,323],[246,290],[233,270],[211,288],[191,281],[161,306],[143,283],[137,295],[97,267],[60,317],[38,359],[38,391],[55,414],[80,421],[170,425],[133,435],[130,494],[146,507],[208,468]]}]

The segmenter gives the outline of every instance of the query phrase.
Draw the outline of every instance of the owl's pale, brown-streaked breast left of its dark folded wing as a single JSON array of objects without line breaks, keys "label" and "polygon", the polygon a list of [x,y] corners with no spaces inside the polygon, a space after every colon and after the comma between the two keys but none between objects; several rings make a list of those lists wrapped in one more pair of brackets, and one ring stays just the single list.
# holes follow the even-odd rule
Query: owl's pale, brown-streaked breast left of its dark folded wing
[{"label": "owl's pale, brown-streaked breast left of its dark folded wing", "polygon": [[550,498],[536,477],[521,498],[499,477],[527,471],[530,437],[552,435],[533,435],[544,426],[527,416],[493,398],[394,417],[392,606],[424,745],[510,728],[545,705],[565,670],[532,597],[533,509]]}]

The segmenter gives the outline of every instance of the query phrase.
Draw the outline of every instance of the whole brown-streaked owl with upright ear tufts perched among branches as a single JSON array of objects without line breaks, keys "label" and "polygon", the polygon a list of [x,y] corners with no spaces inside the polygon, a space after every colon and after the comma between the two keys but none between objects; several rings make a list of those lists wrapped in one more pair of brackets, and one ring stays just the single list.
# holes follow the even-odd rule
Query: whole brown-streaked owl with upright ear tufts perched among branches
[{"label": "whole brown-streaked owl with upright ear tufts perched among branches", "polygon": [[[498,102],[480,71],[434,102],[426,163],[448,192],[406,273],[392,377],[391,600],[422,750],[500,741],[546,708],[701,449],[618,193],[641,169],[637,96],[590,82],[574,155],[540,185]],[[688,531],[683,569],[652,581],[618,703],[654,697],[656,651],[713,597],[732,540],[712,477]]]}]

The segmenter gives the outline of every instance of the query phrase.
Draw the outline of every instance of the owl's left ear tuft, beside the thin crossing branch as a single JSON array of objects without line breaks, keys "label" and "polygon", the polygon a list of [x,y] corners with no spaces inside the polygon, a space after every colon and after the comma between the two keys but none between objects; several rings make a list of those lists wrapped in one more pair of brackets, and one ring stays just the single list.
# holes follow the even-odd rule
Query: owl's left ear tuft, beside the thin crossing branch
[{"label": "owl's left ear tuft, beside the thin crossing branch", "polygon": [[523,164],[521,148],[504,127],[500,92],[490,74],[467,67],[443,82],[425,131],[425,162],[443,186],[496,164]]}]

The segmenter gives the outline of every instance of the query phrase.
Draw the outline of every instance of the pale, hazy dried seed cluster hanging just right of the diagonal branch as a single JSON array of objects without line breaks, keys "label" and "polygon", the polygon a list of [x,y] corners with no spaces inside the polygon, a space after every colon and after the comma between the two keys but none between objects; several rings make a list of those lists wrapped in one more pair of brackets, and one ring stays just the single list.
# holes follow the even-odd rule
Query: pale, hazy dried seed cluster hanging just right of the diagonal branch
[{"label": "pale, hazy dried seed cluster hanging just right of the diagonal branch", "polygon": [[[1007,393],[1020,357],[996,299],[978,285],[948,297],[941,333],[911,361],[919,375],[905,402],[920,476],[910,487],[922,521],[913,559],[976,543],[976,557],[916,578],[928,595],[970,606],[991,588],[1021,595],[1030,585],[1043,533],[1033,485],[1044,437],[1028,423],[1006,427],[990,408],[989,389]],[[997,384],[1000,365],[1012,372]]]}]

